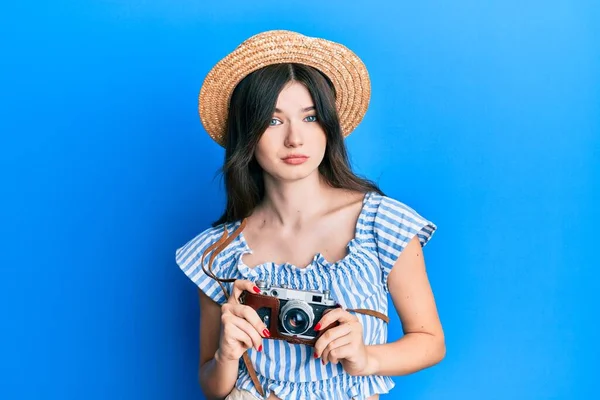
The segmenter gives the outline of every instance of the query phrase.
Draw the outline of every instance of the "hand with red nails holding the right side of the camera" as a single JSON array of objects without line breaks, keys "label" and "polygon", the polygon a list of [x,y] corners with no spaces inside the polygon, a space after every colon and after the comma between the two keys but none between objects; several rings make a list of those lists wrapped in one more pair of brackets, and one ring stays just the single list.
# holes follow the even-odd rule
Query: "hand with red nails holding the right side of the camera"
[{"label": "hand with red nails holding the right side of the camera", "polygon": [[336,308],[326,312],[316,327],[322,330],[335,321],[340,325],[329,329],[317,339],[315,357],[321,357],[323,364],[341,362],[350,375],[366,375],[369,359],[360,321],[348,311]]}]

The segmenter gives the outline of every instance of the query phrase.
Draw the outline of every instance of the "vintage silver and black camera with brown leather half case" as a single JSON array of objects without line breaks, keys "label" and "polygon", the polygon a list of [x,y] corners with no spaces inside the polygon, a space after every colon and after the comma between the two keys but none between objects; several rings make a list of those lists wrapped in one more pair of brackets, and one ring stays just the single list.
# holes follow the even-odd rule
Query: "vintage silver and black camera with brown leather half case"
[{"label": "vintage silver and black camera with brown leather half case", "polygon": [[[315,331],[323,313],[339,305],[329,291],[295,290],[286,286],[269,286],[256,281],[260,294],[246,292],[241,301],[254,308],[275,339],[314,344],[322,333]],[[273,328],[276,328],[273,331]]]}]

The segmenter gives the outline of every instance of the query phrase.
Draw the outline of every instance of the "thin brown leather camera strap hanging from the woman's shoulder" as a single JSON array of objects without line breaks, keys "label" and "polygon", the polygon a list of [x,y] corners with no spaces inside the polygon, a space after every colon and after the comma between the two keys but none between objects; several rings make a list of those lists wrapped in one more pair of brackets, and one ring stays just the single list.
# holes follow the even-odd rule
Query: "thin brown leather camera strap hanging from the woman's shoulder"
[{"label": "thin brown leather camera strap hanging from the woman's shoulder", "polygon": [[[219,240],[217,240],[215,243],[210,245],[204,251],[204,253],[202,254],[202,258],[200,259],[200,264],[202,265],[202,270],[204,271],[204,273],[206,275],[208,275],[209,277],[211,277],[212,279],[216,280],[219,283],[219,286],[221,286],[221,290],[223,290],[223,294],[225,295],[226,299],[229,299],[229,293],[227,293],[227,289],[223,283],[232,283],[232,282],[235,282],[236,279],[219,278],[218,276],[216,276],[214,274],[214,272],[212,270],[212,265],[213,265],[213,262],[214,262],[215,258],[217,257],[217,255],[221,251],[223,251],[225,248],[227,248],[227,246],[229,246],[231,244],[231,242],[233,242],[240,235],[240,233],[242,233],[242,231],[246,227],[246,222],[247,222],[246,218],[244,218],[242,220],[240,226],[231,234],[231,236],[229,236],[227,227],[224,227],[223,235],[219,238]],[[204,258],[211,251],[212,251],[212,254],[210,255],[210,258],[208,259],[208,267],[205,267]],[[379,311],[369,310],[369,309],[365,309],[365,308],[347,308],[346,311],[379,318],[379,319],[383,320],[385,323],[390,322],[389,317]],[[260,393],[261,396],[264,396],[265,392],[260,384],[260,381],[258,380],[258,376],[256,375],[256,370],[254,369],[254,366],[252,365],[252,361],[250,360],[248,351],[244,352],[244,354],[242,355],[242,359],[244,360],[244,365],[246,365],[246,369],[248,370],[248,374],[250,375],[250,379],[252,379],[252,383],[254,384],[254,387],[256,388],[258,393]]]}]

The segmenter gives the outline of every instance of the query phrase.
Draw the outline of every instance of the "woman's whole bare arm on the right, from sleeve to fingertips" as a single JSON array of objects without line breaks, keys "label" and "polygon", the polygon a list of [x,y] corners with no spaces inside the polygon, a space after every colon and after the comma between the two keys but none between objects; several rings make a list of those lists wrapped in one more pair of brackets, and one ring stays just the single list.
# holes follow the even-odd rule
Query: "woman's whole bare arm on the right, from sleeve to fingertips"
[{"label": "woman's whole bare arm on the right, from sleeve to fingertips", "polygon": [[388,276],[388,287],[402,321],[404,336],[392,343],[365,346],[358,318],[343,309],[326,313],[325,332],[315,344],[323,363],[341,362],[350,375],[406,375],[444,358],[444,333],[425,272],[423,251],[415,236],[400,253]]}]

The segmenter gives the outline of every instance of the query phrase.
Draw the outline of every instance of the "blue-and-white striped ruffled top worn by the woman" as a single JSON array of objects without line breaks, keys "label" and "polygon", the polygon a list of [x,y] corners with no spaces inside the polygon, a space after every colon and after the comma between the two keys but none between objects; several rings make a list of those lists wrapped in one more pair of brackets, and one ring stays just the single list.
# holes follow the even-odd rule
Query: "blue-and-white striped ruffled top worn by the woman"
[{"label": "blue-and-white striped ruffled top worn by the woman", "polygon": [[[227,223],[228,232],[231,234],[240,223]],[[219,304],[225,302],[225,296],[218,283],[204,273],[200,259],[204,250],[221,237],[224,225],[205,230],[176,252],[176,261],[183,272]],[[318,253],[304,268],[273,262],[249,268],[242,257],[252,251],[242,233],[215,258],[213,272],[220,278],[263,280],[269,285],[289,285],[298,290],[329,290],[331,297],[344,308],[367,308],[387,315],[387,278],[391,268],[415,235],[424,246],[435,230],[433,223],[413,209],[370,192],[364,197],[355,236],[348,243],[343,259],[328,262]],[[230,286],[228,290],[231,291]],[[385,322],[368,315],[356,316],[363,325],[365,344],[386,343]],[[251,348],[249,355],[266,397],[273,392],[281,399],[366,399],[394,387],[387,376],[351,376],[341,363],[323,366],[313,357],[312,348],[283,340],[264,340],[263,351]],[[260,398],[241,360],[236,387]]]}]

